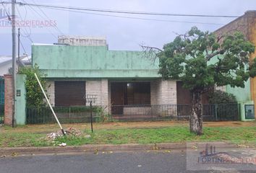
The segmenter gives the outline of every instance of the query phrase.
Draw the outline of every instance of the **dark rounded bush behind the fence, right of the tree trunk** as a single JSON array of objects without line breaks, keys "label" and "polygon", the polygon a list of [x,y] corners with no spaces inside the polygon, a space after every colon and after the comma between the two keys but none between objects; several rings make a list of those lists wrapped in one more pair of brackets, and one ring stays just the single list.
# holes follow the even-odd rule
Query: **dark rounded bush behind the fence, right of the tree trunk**
[{"label": "dark rounded bush behind the fence, right of the tree trunk", "polygon": [[220,104],[220,103],[237,103],[236,97],[233,94],[223,92],[221,90],[215,90],[208,94],[210,104]]}]

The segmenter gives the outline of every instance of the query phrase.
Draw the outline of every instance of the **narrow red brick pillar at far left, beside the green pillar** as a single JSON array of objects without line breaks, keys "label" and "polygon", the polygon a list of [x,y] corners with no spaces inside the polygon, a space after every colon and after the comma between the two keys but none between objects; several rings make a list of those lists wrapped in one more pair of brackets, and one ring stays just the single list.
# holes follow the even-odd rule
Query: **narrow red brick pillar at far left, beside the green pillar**
[{"label": "narrow red brick pillar at far left, beside the green pillar", "polygon": [[12,125],[12,75],[4,75],[4,124]]}]

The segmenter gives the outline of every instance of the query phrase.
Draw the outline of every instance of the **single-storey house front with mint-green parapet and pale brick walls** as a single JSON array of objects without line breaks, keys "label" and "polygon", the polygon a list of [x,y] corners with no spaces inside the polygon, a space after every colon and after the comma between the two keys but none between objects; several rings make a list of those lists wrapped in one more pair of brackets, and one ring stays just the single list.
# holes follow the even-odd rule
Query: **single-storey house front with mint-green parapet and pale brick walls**
[{"label": "single-storey house front with mint-green parapet and pale brick walls", "polygon": [[177,98],[179,82],[161,79],[158,59],[149,58],[142,51],[108,50],[102,38],[62,40],[66,42],[32,45],[33,65],[37,64],[47,75],[47,92],[55,107],[86,105],[86,94],[96,95],[95,105],[127,106],[108,110],[114,114],[137,112],[140,107],[145,113],[148,105],[188,102],[183,93],[180,96],[184,98]]}]

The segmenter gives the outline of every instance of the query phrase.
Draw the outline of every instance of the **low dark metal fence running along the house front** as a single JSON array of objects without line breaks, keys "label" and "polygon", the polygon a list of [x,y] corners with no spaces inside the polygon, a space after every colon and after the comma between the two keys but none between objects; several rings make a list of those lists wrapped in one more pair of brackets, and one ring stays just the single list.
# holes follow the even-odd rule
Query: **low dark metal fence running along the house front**
[{"label": "low dark metal fence running along the house front", "polygon": [[[89,123],[90,107],[54,107],[61,123]],[[93,121],[189,120],[191,105],[93,107]],[[204,121],[239,120],[238,104],[202,105]],[[106,118],[106,119],[105,119]],[[27,124],[55,123],[49,107],[27,108]]]}]

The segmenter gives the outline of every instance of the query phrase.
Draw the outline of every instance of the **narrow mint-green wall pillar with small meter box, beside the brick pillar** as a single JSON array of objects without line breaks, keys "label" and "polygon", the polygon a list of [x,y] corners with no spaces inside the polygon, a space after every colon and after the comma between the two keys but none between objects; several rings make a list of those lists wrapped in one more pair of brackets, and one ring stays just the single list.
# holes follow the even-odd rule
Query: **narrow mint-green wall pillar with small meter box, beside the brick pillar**
[{"label": "narrow mint-green wall pillar with small meter box, beside the brick pillar", "polygon": [[17,125],[25,125],[26,123],[25,79],[26,79],[26,76],[24,74],[17,74],[16,76],[16,89],[20,90],[20,96],[16,96],[15,116],[16,116]]}]

